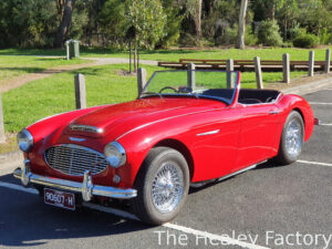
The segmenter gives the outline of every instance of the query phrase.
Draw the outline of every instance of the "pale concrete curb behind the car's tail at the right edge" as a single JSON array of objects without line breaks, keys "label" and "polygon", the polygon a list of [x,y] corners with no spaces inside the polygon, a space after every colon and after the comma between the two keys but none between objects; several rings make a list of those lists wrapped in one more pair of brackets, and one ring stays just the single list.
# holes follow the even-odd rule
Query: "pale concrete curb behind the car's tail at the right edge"
[{"label": "pale concrete curb behind the car's tail at the right edge", "polygon": [[286,94],[305,95],[309,93],[317,92],[326,86],[332,86],[331,77],[318,80],[318,81],[311,82],[309,84],[304,84],[304,85],[300,85],[300,86],[295,86],[295,87],[291,87],[291,89],[286,89],[286,90],[282,90],[281,92],[283,92]]}]

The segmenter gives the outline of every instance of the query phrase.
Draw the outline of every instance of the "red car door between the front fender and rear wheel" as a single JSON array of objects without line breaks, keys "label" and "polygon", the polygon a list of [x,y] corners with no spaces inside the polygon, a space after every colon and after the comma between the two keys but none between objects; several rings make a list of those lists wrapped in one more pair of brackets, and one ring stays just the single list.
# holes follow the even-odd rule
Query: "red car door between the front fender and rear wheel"
[{"label": "red car door between the front fender and rear wheel", "polygon": [[234,170],[264,160],[274,155],[279,108],[276,104],[239,105],[241,131],[238,157]]}]

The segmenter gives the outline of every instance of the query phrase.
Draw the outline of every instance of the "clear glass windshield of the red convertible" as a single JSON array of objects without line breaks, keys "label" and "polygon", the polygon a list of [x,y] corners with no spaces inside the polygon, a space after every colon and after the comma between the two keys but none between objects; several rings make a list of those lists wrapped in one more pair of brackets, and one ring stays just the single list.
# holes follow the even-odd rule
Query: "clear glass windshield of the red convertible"
[{"label": "clear glass windshield of the red convertible", "polygon": [[194,96],[208,97],[231,104],[238,82],[238,72],[210,70],[156,71],[139,97]]}]

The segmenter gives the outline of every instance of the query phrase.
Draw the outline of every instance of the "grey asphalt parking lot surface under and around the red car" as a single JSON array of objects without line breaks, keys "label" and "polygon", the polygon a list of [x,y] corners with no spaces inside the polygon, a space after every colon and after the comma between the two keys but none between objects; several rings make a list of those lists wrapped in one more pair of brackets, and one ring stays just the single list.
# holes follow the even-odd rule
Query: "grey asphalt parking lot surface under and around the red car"
[{"label": "grey asphalt parking lot surface under and around the red car", "polygon": [[324,125],[298,163],[266,163],[191,190],[160,227],[113,209],[45,206],[0,170],[0,248],[332,248],[332,87],[304,97]]}]

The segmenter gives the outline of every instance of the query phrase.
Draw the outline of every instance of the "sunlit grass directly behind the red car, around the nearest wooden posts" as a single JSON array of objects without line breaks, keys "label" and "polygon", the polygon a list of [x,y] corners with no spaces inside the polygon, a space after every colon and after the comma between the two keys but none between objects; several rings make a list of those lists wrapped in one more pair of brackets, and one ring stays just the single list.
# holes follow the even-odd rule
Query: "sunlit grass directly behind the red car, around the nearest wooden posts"
[{"label": "sunlit grass directly behind the red car, around the nearest wooden posts", "polygon": [[[144,68],[148,76],[154,71],[160,70],[160,68],[149,65]],[[74,110],[73,79],[76,73],[85,75],[87,106],[134,100],[137,96],[136,76],[123,75],[123,71],[126,70],[128,70],[127,64],[81,69],[33,81],[3,93],[6,132],[17,133],[40,118]],[[264,82],[281,79],[281,73],[263,74]],[[242,87],[256,87],[255,73],[242,74]]]}]

